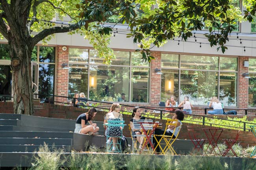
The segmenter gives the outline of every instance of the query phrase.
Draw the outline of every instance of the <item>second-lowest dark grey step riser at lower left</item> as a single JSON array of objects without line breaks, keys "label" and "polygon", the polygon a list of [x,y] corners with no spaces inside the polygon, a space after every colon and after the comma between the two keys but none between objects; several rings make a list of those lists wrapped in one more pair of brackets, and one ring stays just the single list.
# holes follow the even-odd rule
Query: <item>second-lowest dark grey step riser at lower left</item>
[{"label": "second-lowest dark grey step riser at lower left", "polygon": [[24,145],[24,144],[34,144],[34,145],[68,145],[72,146],[72,139],[51,139],[51,138],[12,138],[12,137],[1,137],[0,144],[9,144],[9,145]]}]

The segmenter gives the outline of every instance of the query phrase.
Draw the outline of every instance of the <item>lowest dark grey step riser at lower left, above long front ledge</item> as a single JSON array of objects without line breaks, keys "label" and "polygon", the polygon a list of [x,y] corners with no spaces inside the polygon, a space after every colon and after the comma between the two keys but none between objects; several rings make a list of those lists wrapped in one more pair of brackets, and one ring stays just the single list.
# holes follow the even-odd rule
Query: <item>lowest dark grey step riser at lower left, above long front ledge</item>
[{"label": "lowest dark grey step riser at lower left, above long front ledge", "polygon": [[[0,144],[0,152],[38,152],[39,147],[43,147],[42,145],[6,145]],[[50,152],[54,152],[56,150],[63,152],[71,152],[72,146],[59,146],[59,145],[48,145]]]}]

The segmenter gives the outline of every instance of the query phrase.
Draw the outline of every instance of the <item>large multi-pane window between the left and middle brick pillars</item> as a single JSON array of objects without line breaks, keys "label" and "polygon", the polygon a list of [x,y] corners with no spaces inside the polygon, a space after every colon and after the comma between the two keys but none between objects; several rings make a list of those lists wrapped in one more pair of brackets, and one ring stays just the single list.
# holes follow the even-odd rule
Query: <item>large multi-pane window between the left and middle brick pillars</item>
[{"label": "large multi-pane window between the left and middle brick pillars", "polygon": [[148,102],[148,62],[137,52],[114,54],[116,59],[107,66],[95,49],[70,48],[69,96],[84,92],[96,101]]}]

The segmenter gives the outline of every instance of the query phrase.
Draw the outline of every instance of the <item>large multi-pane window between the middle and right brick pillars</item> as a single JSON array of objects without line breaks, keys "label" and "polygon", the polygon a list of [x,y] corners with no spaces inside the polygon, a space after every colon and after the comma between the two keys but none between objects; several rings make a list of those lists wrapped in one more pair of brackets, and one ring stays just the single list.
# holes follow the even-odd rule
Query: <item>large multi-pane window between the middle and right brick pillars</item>
[{"label": "large multi-pane window between the middle and right brick pillars", "polygon": [[187,95],[192,104],[206,105],[217,96],[225,106],[237,105],[236,57],[162,54],[161,72],[161,101]]}]

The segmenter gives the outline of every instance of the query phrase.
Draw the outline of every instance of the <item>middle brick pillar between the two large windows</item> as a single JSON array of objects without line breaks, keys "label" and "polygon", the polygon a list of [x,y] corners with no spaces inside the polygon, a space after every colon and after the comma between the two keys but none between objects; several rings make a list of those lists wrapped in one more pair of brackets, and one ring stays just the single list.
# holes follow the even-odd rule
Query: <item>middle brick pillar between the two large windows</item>
[{"label": "middle brick pillar between the two large windows", "polygon": [[158,105],[161,99],[161,74],[156,74],[155,69],[161,69],[161,52],[154,51],[151,53],[155,57],[155,60],[151,61],[151,93],[150,104]]}]

